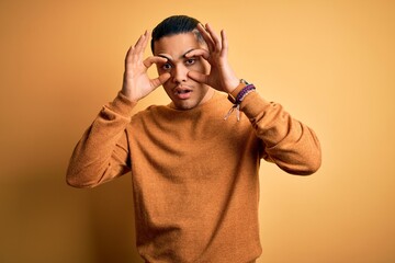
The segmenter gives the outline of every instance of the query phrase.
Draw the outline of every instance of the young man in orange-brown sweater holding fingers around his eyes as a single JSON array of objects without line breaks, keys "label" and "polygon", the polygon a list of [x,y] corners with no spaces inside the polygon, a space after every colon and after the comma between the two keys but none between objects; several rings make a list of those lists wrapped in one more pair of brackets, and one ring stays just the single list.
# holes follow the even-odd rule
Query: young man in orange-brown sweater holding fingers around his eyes
[{"label": "young man in orange-brown sweater holding fingers around his eyes", "polygon": [[[318,139],[236,77],[223,31],[177,15],[153,31],[154,56],[144,59],[148,42],[146,32],[127,52],[123,88],[78,142],[67,182],[93,187],[132,172],[146,262],[255,262],[260,160],[311,174]],[[149,79],[154,64],[159,76]],[[171,103],[132,116],[159,85]]]}]

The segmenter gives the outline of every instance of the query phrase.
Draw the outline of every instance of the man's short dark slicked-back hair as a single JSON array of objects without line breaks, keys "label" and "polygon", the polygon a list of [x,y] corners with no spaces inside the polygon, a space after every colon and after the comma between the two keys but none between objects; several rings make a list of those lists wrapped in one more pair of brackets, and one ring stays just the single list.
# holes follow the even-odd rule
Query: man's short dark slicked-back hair
[{"label": "man's short dark slicked-back hair", "polygon": [[[171,36],[181,33],[193,32],[200,22],[188,15],[172,15],[165,19],[153,30],[151,37],[151,52],[154,53],[154,43],[159,41],[163,36]],[[203,41],[203,37],[199,32],[196,32],[196,36],[199,41]]]}]

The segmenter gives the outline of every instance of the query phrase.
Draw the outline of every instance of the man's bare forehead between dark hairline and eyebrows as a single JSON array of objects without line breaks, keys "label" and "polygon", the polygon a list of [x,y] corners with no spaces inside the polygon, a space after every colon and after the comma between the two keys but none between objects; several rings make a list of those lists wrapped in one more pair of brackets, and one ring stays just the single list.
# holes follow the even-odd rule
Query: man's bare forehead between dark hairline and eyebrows
[{"label": "man's bare forehead between dark hairline and eyebrows", "polygon": [[201,48],[201,43],[194,33],[181,33],[177,35],[163,36],[154,43],[154,55],[166,54],[178,57],[191,49]]}]

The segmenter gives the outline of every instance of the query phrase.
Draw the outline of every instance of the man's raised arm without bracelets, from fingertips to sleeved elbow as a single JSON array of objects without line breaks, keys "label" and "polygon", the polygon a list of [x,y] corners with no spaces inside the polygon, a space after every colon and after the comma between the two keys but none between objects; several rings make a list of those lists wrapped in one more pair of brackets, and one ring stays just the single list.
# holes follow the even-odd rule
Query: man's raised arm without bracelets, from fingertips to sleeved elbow
[{"label": "man's raised arm without bracelets, from fingertips to sleeved elbow", "polygon": [[67,169],[66,181],[75,187],[93,187],[129,171],[131,160],[125,134],[135,104],[166,82],[169,73],[149,79],[147,70],[161,57],[143,59],[149,41],[145,32],[125,58],[121,92],[112,103],[103,106],[92,125],[77,144]]}]

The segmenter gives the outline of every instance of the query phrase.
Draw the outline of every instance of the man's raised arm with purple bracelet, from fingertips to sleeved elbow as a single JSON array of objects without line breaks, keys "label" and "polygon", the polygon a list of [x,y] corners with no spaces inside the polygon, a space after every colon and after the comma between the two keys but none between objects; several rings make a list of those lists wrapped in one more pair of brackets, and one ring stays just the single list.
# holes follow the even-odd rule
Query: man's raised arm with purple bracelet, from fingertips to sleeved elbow
[{"label": "man's raised arm with purple bracelet, from fingertips to sleeved elbow", "polygon": [[[207,24],[198,30],[207,44],[207,50],[198,49],[188,56],[202,56],[211,65],[208,75],[191,71],[189,76],[233,98],[245,88],[227,60],[228,43],[225,32],[221,37]],[[257,92],[246,95],[239,108],[250,119],[264,147],[264,159],[293,174],[312,174],[320,167],[321,151],[315,133],[293,118],[280,104],[269,103]]]}]

